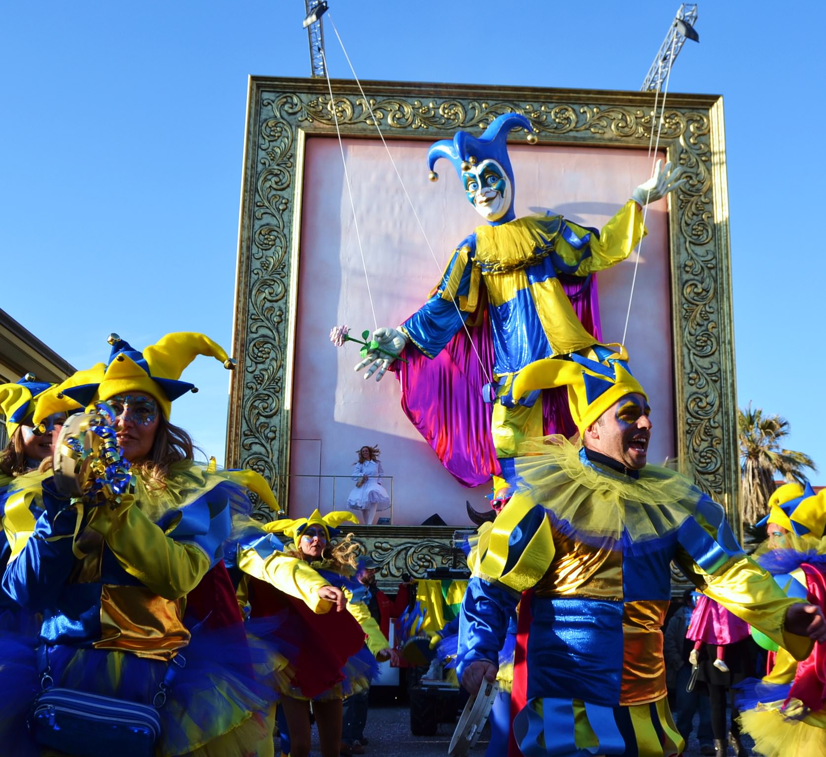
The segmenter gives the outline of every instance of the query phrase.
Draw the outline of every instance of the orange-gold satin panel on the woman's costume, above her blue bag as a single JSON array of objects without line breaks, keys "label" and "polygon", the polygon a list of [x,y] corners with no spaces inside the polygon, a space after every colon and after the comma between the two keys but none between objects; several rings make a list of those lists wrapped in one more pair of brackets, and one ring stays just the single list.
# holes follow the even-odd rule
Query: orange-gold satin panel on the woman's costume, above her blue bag
[{"label": "orange-gold satin panel on the woman's costume, above her blue bag", "polygon": [[138,657],[172,659],[189,643],[181,600],[170,601],[144,586],[111,586],[101,592],[100,650],[128,651]]}]

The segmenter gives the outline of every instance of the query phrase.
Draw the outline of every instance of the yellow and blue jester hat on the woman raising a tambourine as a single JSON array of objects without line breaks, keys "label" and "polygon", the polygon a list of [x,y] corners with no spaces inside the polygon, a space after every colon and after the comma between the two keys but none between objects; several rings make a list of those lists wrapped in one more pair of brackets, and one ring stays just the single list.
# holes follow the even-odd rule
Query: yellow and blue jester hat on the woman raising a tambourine
[{"label": "yellow and blue jester hat on the woman raising a tambourine", "polygon": [[116,394],[135,392],[154,397],[164,417],[169,419],[173,400],[187,392],[197,392],[192,383],[178,378],[198,355],[209,355],[221,360],[225,368],[235,368],[235,360],[221,345],[194,331],[167,334],[142,353],[117,334],[111,334],[108,342],[112,345],[108,363],[78,371],[41,396],[35,410],[36,423],[53,412],[67,409],[68,402],[88,407],[95,402],[105,402]]}]

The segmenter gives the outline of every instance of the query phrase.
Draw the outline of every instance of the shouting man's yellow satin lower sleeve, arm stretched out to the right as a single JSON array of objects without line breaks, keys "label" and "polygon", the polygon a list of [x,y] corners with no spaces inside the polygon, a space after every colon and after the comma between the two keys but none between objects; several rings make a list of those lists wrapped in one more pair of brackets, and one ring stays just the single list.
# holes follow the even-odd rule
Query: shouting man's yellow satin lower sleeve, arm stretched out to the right
[{"label": "shouting man's yellow satin lower sleeve, arm stretched out to the right", "polygon": [[795,659],[809,656],[814,642],[783,627],[789,607],[800,599],[786,597],[775,579],[750,557],[732,558],[714,574],[705,573],[682,549],[676,562],[706,597],[762,631]]}]

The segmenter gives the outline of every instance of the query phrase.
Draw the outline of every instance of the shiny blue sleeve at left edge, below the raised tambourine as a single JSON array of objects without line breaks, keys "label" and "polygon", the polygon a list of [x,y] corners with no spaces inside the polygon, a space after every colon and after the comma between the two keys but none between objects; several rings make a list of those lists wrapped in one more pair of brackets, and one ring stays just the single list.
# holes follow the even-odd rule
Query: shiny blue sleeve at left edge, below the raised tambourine
[{"label": "shiny blue sleeve at left edge, below the raised tambourine", "polygon": [[12,559],[2,578],[2,588],[18,604],[43,610],[55,603],[74,567],[72,542],[77,510],[52,489],[52,479],[43,482],[45,512],[38,517],[34,533]]}]

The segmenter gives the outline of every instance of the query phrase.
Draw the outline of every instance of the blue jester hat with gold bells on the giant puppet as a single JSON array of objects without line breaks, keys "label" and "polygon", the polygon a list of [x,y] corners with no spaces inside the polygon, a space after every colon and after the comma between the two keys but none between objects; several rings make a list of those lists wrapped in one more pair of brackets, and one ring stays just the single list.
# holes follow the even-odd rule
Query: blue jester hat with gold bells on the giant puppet
[{"label": "blue jester hat with gold bells on the giant puppet", "polygon": [[507,138],[508,132],[521,126],[528,131],[528,140],[536,141],[534,127],[530,121],[521,113],[503,113],[497,116],[487,126],[482,136],[473,136],[469,131],[457,131],[452,140],[439,140],[430,145],[427,152],[427,164],[430,167],[430,179],[439,179],[439,174],[434,171],[434,165],[439,158],[446,158],[456,169],[459,179],[462,174],[470,169],[471,165],[482,163],[483,160],[493,159],[505,169],[513,197],[510,201],[510,209],[507,214],[498,221],[491,221],[493,225],[510,221],[514,217],[513,207],[516,194],[516,184],[514,182],[514,172],[510,167],[510,157],[508,157]]}]

